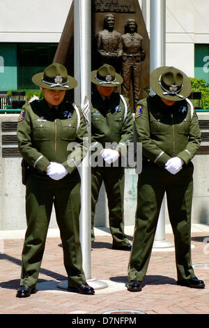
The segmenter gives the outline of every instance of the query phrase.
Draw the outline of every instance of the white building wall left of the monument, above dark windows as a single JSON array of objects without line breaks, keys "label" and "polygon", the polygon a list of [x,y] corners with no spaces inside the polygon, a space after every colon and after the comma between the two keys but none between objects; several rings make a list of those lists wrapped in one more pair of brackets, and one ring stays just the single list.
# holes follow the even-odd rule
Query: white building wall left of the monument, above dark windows
[{"label": "white building wall left of the monument, above dark windows", "polygon": [[1,0],[0,42],[59,42],[72,0]]}]

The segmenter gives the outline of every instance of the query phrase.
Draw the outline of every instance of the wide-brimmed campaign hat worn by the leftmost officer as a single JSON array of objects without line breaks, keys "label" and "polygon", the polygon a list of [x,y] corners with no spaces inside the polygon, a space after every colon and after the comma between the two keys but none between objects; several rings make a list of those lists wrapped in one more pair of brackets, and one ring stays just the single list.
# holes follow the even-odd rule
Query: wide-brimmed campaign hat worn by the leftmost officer
[{"label": "wide-brimmed campaign hat worn by the leftmost officer", "polygon": [[44,72],[33,75],[32,81],[39,87],[51,90],[68,91],[77,87],[77,80],[68,75],[65,66],[58,63],[51,64]]}]

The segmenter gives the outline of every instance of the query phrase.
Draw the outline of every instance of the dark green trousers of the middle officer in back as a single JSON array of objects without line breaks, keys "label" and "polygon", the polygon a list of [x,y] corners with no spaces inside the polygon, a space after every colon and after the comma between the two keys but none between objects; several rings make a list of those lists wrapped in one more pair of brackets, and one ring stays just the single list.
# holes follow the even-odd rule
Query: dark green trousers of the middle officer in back
[{"label": "dark green trousers of the middle officer in back", "polygon": [[125,246],[129,241],[124,233],[123,199],[124,199],[124,167],[92,167],[91,168],[91,242],[95,239],[93,231],[95,205],[98,202],[100,188],[104,181],[109,208],[109,228],[115,246]]}]

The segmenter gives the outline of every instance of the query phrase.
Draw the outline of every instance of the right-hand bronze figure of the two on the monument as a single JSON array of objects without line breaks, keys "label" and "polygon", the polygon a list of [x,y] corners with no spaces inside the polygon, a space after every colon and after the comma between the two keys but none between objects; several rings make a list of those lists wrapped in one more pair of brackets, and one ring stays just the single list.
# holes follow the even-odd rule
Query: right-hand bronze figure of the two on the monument
[{"label": "right-hand bronze figure of the two on the monument", "polygon": [[121,37],[123,43],[122,94],[130,98],[130,82],[132,82],[134,109],[139,99],[144,98],[141,84],[141,61],[144,61],[146,57],[143,37],[137,33],[137,27],[137,22],[130,18],[125,24],[125,34]]}]

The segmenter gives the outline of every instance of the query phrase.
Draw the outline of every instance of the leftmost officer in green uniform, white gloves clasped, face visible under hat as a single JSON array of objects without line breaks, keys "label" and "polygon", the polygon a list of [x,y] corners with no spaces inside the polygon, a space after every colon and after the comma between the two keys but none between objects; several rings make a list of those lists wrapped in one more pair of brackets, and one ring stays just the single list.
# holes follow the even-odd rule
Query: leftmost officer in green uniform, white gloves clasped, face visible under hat
[{"label": "leftmost officer in green uniform, white gloves clasped, face visible under hat", "polygon": [[[33,76],[45,96],[22,108],[17,124],[19,148],[30,167],[26,179],[27,229],[22,251],[22,274],[17,297],[36,292],[52,205],[61,233],[68,290],[94,294],[82,269],[79,241],[80,177],[77,165],[85,156],[88,137],[81,110],[63,100],[77,86],[61,64]],[[75,147],[71,147],[71,142]]]}]

